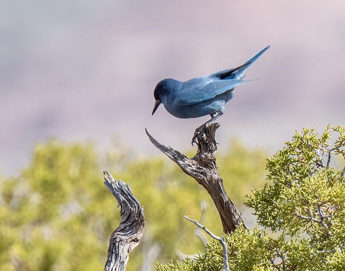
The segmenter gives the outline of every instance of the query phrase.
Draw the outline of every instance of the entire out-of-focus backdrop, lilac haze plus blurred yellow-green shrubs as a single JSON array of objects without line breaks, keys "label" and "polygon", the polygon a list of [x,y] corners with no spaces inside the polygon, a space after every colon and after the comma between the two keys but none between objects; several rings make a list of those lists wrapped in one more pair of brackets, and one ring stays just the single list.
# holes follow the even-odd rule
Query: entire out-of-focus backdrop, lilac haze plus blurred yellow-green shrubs
[{"label": "entire out-of-focus backdrop, lilac haze plus blurred yellow-green shrubs", "polygon": [[344,124],[344,14],[341,0],[1,3],[1,269],[102,267],[119,219],[101,184],[105,168],[140,191],[145,207],[128,270],[203,249],[183,215],[201,218],[204,199],[204,222],[221,234],[218,214],[145,128],[193,156],[191,137],[209,116],[177,119],[163,106],[151,116],[153,90],[164,78],[239,66],[271,45],[246,72],[260,80],[236,88],[217,119],[225,188],[255,225],[242,203],[262,186],[267,155],[295,129]]}]

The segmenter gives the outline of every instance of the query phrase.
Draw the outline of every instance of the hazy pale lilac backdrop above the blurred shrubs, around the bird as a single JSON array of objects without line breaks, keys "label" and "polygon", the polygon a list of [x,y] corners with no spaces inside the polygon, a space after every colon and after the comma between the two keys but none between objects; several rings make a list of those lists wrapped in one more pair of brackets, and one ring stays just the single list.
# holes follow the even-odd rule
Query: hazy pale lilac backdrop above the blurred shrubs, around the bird
[{"label": "hazy pale lilac backdrop above the blurred shrubs, around the bird", "polygon": [[345,124],[344,0],[6,1],[0,7],[0,171],[16,174],[50,136],[141,155],[191,148],[209,119],[178,119],[153,90],[243,64],[216,139],[282,148],[295,129]]}]

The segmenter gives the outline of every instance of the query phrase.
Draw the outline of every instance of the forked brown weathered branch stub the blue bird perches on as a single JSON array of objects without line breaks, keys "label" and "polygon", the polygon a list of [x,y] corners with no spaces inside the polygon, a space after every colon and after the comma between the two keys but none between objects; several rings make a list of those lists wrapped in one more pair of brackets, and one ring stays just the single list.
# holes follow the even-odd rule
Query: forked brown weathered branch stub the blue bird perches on
[{"label": "forked brown weathered branch stub the blue bird perches on", "polygon": [[212,123],[200,131],[196,142],[198,150],[191,159],[177,150],[160,144],[147,130],[146,133],[159,150],[178,164],[186,174],[204,186],[216,205],[224,232],[229,233],[234,231],[237,225],[241,223],[244,227],[245,225],[241,214],[225,192],[223,179],[219,176],[215,159],[217,150],[215,132],[218,127],[218,123]]}]

